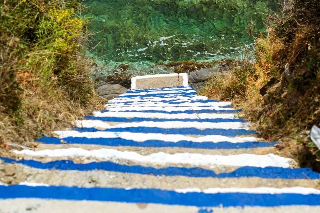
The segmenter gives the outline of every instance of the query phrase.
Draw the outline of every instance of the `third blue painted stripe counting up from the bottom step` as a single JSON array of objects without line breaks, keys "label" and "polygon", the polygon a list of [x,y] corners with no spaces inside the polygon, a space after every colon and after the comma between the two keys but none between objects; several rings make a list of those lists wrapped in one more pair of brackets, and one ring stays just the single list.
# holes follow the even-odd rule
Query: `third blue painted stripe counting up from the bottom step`
[{"label": "third blue painted stripe counting up from the bottom step", "polygon": [[[161,140],[147,140],[137,142],[134,140],[126,140],[123,138],[86,138],[86,137],[67,137],[62,138],[67,144],[95,144],[104,146],[132,146],[132,147],[181,147],[181,148],[203,148],[203,149],[239,149],[239,148],[261,148],[272,147],[276,142],[257,142],[247,141],[243,143],[231,143],[228,141],[221,142],[192,142],[192,141],[161,141]],[[36,140],[45,144],[61,144],[60,138],[43,137]]]}]

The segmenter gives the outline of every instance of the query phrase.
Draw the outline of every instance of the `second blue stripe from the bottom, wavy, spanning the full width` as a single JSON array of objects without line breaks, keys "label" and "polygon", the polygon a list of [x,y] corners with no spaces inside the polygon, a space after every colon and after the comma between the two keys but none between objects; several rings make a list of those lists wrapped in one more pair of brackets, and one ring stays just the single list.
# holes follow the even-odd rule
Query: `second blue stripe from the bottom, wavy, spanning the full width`
[{"label": "second blue stripe from the bottom, wavy, spanning the full width", "polygon": [[140,165],[122,165],[110,161],[92,162],[88,164],[76,164],[71,160],[58,160],[47,163],[42,163],[35,160],[15,160],[5,157],[0,157],[4,163],[16,163],[26,166],[34,167],[37,169],[54,169],[54,170],[78,170],[78,171],[91,171],[91,170],[105,170],[114,172],[134,173],[142,175],[154,176],[187,176],[195,178],[266,178],[266,179],[320,179],[320,174],[312,171],[310,168],[290,169],[281,167],[253,167],[244,166],[229,173],[216,174],[213,170],[202,169],[200,167],[185,168],[185,167],[166,167],[154,168]]}]

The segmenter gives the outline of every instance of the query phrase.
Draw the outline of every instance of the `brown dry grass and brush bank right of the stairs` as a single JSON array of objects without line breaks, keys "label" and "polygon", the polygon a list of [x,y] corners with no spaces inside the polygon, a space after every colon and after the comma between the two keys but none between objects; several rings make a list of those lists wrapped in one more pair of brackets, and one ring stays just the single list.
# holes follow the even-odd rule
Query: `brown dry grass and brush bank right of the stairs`
[{"label": "brown dry grass and brush bank right of the stairs", "polygon": [[261,137],[280,140],[283,147],[290,146],[301,167],[320,171],[320,159],[314,155],[318,148],[309,137],[311,127],[320,125],[319,2],[290,4],[268,35],[256,40],[256,62],[213,78],[203,95],[231,100],[255,123]]}]

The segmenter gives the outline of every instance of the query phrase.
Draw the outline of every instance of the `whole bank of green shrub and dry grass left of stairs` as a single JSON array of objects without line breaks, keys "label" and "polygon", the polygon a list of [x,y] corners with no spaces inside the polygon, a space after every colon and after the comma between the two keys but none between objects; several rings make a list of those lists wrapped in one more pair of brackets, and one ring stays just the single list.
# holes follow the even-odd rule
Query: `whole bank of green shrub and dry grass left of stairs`
[{"label": "whole bank of green shrub and dry grass left of stairs", "polygon": [[0,2],[0,156],[102,108],[79,0]]}]

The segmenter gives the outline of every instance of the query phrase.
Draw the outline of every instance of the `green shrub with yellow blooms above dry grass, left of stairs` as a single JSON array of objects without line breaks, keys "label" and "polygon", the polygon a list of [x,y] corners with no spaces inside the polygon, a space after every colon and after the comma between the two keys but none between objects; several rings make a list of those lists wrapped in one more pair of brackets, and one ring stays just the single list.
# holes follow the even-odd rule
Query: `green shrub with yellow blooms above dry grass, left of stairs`
[{"label": "green shrub with yellow blooms above dry grass, left of stairs", "polygon": [[70,99],[88,101],[90,68],[81,46],[86,21],[75,15],[81,2],[0,1],[1,110],[19,109],[22,88],[62,88]]}]

